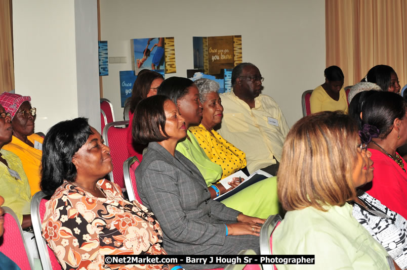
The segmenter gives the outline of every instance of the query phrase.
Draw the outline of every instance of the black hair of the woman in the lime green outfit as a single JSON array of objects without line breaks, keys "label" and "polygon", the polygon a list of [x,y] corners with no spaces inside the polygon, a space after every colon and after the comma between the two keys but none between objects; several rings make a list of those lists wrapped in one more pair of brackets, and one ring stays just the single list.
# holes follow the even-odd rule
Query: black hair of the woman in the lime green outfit
[{"label": "black hair of the woman in the lime green outfit", "polygon": [[192,84],[193,81],[190,79],[171,77],[161,83],[157,89],[157,95],[167,96],[177,105],[177,100],[188,94],[188,87]]}]

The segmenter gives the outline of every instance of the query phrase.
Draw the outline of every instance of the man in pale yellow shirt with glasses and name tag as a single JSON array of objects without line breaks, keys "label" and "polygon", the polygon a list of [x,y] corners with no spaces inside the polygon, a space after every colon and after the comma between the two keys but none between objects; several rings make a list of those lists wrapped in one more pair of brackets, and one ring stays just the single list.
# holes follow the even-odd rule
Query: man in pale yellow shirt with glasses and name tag
[{"label": "man in pale yellow shirt with glasses and name tag", "polygon": [[289,127],[278,104],[262,95],[260,70],[251,63],[234,67],[232,92],[221,94],[221,136],[246,153],[250,173],[263,169],[276,175]]}]

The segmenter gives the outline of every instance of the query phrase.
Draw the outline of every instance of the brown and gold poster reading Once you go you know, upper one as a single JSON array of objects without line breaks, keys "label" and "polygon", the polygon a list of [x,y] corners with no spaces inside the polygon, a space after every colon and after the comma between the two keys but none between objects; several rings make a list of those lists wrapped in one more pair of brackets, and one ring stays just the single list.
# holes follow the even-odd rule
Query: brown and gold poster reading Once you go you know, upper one
[{"label": "brown and gold poster reading Once you go you know, upper one", "polygon": [[194,36],[192,42],[194,68],[205,74],[219,74],[242,62],[241,35]]}]

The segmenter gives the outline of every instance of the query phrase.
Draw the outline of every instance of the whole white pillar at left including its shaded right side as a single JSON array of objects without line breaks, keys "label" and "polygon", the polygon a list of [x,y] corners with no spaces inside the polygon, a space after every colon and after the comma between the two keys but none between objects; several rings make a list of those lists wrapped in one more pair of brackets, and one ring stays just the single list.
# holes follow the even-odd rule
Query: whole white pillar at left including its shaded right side
[{"label": "whole white pillar at left including its shaded right side", "polygon": [[78,116],[100,129],[96,4],[13,1],[15,93],[31,96],[35,131]]}]

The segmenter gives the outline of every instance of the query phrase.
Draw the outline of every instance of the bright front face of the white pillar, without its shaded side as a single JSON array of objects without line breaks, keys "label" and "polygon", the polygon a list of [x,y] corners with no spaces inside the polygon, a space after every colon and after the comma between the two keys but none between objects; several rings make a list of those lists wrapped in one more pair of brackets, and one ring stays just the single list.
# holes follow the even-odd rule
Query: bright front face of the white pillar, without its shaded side
[{"label": "bright front face of the white pillar, without its shaded side", "polygon": [[74,20],[72,1],[13,1],[16,94],[31,96],[35,131],[77,117]]}]

